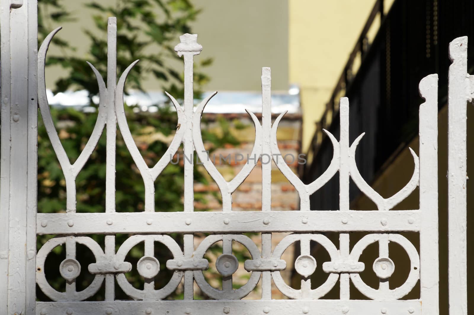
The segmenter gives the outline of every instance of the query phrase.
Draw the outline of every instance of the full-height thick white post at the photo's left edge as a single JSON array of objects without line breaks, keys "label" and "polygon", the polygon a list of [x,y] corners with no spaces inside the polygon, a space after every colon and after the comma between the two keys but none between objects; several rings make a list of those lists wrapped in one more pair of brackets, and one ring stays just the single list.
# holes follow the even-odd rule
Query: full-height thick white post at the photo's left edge
[{"label": "full-height thick white post at the photo's left edge", "polygon": [[36,0],[2,0],[0,314],[35,314]]}]

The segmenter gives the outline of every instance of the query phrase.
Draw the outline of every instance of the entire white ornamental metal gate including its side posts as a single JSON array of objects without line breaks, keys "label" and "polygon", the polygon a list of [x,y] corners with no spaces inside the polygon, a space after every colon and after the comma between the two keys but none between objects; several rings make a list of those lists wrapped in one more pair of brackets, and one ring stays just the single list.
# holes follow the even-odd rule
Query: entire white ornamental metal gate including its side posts
[{"label": "entire white ornamental metal gate including its side posts", "polygon": [[[240,173],[227,182],[208,158],[201,138],[201,114],[210,97],[193,108],[192,65],[193,57],[201,53],[197,35],[185,34],[175,51],[184,57],[185,97],[181,106],[169,95],[178,115],[180,128],[166,154],[152,168],[140,155],[128,129],[123,104],[126,77],[134,62],[116,78],[116,19],[109,18],[107,84],[91,65],[100,87],[99,115],[94,131],[80,157],[71,165],[49,112],[46,98],[44,65],[46,51],[56,29],[39,49],[36,63],[36,1],[1,1],[1,191],[0,191],[0,314],[38,315],[91,315],[91,314],[423,314],[436,315],[438,311],[438,76],[429,75],[419,84],[425,102],[419,109],[419,157],[411,150],[414,160],[413,175],[408,184],[390,198],[375,192],[359,174],[355,153],[360,135],[349,143],[349,100],[340,102],[340,139],[328,131],[334,147],[330,166],[311,184],[301,180],[278,158],[280,151],[276,131],[283,115],[272,124],[271,75],[269,68],[262,69],[262,122],[248,112],[255,123],[253,163],[247,163]],[[14,39],[14,40],[13,40]],[[474,80],[467,74],[467,38],[455,39],[450,44],[453,61],[449,71],[449,292],[450,313],[467,314],[466,310],[466,102],[474,91]],[[37,69],[37,72],[36,72]],[[36,82],[37,79],[37,82]],[[37,86],[36,86],[37,83]],[[37,89],[36,89],[37,87]],[[413,87],[415,88],[415,87]],[[214,94],[215,95],[215,94]],[[39,108],[64,171],[67,186],[67,213],[42,214],[36,211],[36,104]],[[115,212],[115,146],[116,127],[126,142],[145,184],[145,211]],[[76,213],[75,177],[94,150],[103,129],[107,134],[106,207],[103,213]],[[184,155],[195,151],[219,186],[223,206],[221,212],[193,211],[193,164],[185,159],[184,209],[182,212],[155,212],[154,181],[181,143]],[[246,179],[262,159],[262,211],[232,211],[232,193]],[[272,211],[271,159],[294,185],[301,199],[299,211]],[[310,195],[338,173],[340,183],[339,209],[310,211]],[[377,206],[373,211],[349,209],[349,178],[356,183]],[[392,210],[419,186],[419,209]],[[336,211],[333,211],[336,210]],[[370,232],[350,250],[348,232]],[[419,251],[398,232],[419,233]],[[194,233],[211,233],[197,248]],[[262,233],[262,250],[245,236],[245,232]],[[273,232],[293,232],[272,250]],[[333,244],[320,232],[338,232],[339,244]],[[115,235],[133,234],[115,252]],[[184,248],[169,236],[184,234]],[[36,235],[57,235],[36,253]],[[86,234],[105,234],[105,248],[101,248]],[[214,243],[223,242],[223,254],[216,262],[223,276],[222,289],[215,289],[204,279],[203,270],[209,267],[204,258]],[[246,285],[232,287],[232,274],[237,259],[232,254],[232,242],[244,245],[252,259],[245,262],[250,272]],[[281,259],[285,249],[301,242],[301,255],[295,269],[302,276],[301,289],[285,283],[280,271],[286,268]],[[329,274],[319,288],[311,289],[309,276],[317,262],[310,255],[310,241],[322,245],[330,261],[322,264]],[[145,243],[145,256],[137,266],[125,261],[128,251],[138,243]],[[172,252],[173,259],[166,267],[173,270],[169,283],[155,290],[153,279],[158,274],[154,242],[160,242]],[[390,289],[390,276],[395,268],[388,251],[389,242],[401,245],[410,258],[410,271],[406,282]],[[365,248],[378,243],[379,258],[372,266],[359,262]],[[65,292],[53,289],[46,280],[44,264],[47,254],[57,245],[66,246],[66,259],[60,272],[66,280]],[[94,254],[96,263],[81,266],[76,260],[76,244],[86,245]],[[146,279],[143,290],[134,288],[124,273],[137,268]],[[76,291],[75,279],[80,270],[95,275],[91,285]],[[378,289],[369,287],[359,273],[372,268],[380,279]],[[184,281],[183,300],[165,300]],[[272,300],[271,281],[291,300]],[[131,298],[115,300],[114,286]],[[240,300],[262,281],[260,300]],[[420,299],[403,300],[420,281]],[[193,300],[194,282],[212,300]],[[337,282],[338,300],[322,299]],[[349,296],[349,283],[369,299],[355,300]],[[36,283],[53,302],[36,302]],[[105,285],[105,300],[84,301]]]}]

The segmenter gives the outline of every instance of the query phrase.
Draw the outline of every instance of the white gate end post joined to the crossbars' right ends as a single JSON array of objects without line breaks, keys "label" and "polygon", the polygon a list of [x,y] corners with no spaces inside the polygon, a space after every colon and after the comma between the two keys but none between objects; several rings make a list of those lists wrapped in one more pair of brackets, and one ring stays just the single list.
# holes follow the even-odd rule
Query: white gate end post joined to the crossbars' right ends
[{"label": "white gate end post joined to the crossbars' right ends", "polygon": [[421,312],[439,314],[438,258],[438,75],[419,83],[426,101],[419,106],[419,209],[421,211]]}]

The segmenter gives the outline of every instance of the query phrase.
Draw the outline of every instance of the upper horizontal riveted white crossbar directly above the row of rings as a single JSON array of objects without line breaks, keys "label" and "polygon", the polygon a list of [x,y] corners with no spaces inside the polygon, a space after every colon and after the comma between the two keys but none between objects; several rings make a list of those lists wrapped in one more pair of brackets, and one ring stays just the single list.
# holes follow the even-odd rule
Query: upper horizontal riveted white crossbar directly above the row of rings
[{"label": "upper horizontal riveted white crossbar directly above the row of rings", "polygon": [[420,229],[420,210],[38,213],[37,233],[349,232]]}]

